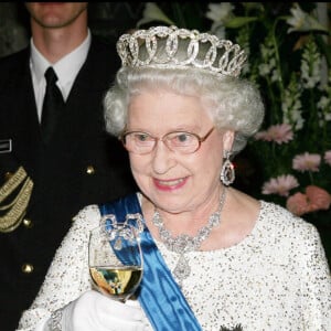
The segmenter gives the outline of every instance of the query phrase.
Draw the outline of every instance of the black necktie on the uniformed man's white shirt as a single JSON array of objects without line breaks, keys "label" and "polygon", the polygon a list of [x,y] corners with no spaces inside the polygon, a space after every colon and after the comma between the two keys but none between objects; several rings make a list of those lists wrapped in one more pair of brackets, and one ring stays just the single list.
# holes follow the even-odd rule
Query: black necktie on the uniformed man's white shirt
[{"label": "black necktie on the uniformed man's white shirt", "polygon": [[49,142],[53,135],[56,121],[64,106],[62,93],[56,85],[57,76],[53,67],[49,67],[45,72],[46,90],[42,109],[42,138],[44,142]]}]

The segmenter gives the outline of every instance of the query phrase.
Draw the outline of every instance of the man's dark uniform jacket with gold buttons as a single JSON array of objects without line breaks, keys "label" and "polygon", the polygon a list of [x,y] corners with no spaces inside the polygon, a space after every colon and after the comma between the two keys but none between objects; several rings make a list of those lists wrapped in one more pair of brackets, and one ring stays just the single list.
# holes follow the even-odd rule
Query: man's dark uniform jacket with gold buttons
[{"label": "man's dark uniform jacket with gold buttons", "polygon": [[[22,310],[32,303],[73,216],[87,204],[136,191],[127,152],[104,128],[102,99],[119,67],[115,45],[93,38],[87,60],[46,146],[41,140],[29,60],[29,47],[0,60],[2,221],[28,177],[33,182],[20,225],[15,224],[11,232],[1,227],[0,329],[3,331],[14,330]],[[10,174],[20,167],[26,178],[12,192],[4,190]]]}]

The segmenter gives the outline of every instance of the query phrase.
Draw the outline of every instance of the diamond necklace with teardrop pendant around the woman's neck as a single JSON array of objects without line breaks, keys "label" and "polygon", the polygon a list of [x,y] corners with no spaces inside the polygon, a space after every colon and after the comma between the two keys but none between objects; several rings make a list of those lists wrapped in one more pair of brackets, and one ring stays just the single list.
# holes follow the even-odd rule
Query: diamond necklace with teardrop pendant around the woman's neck
[{"label": "diamond necklace with teardrop pendant around the woman's neck", "polygon": [[207,224],[203,226],[194,237],[185,234],[173,237],[164,227],[164,223],[160,213],[157,209],[154,209],[152,222],[159,228],[160,238],[163,241],[163,244],[168,249],[180,254],[179,260],[173,269],[173,275],[180,287],[182,286],[183,279],[191,274],[191,267],[184,254],[188,252],[197,250],[202,242],[210,236],[213,227],[221,223],[221,212],[225,202],[225,196],[226,188],[224,188],[222,191],[218,210],[210,216]]}]

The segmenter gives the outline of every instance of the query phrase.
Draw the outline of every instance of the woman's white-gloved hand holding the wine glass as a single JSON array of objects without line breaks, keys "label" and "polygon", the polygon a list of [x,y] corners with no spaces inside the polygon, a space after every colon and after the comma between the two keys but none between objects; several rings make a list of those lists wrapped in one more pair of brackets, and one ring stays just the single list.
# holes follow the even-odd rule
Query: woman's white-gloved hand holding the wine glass
[{"label": "woman's white-gloved hand holding the wine glass", "polygon": [[111,300],[89,290],[63,310],[62,329],[65,331],[143,331],[148,322],[142,309],[130,301]]}]

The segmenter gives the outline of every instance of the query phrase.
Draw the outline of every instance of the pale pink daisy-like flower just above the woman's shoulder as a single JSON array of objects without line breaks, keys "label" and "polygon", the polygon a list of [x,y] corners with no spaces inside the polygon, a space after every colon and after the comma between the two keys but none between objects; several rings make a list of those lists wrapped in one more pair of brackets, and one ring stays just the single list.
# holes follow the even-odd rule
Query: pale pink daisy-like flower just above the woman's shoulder
[{"label": "pale pink daisy-like flower just above the woman's shoulder", "polygon": [[264,183],[263,194],[279,194],[288,196],[291,189],[298,188],[297,179],[291,174],[282,174],[277,178],[271,178],[270,181]]}]

